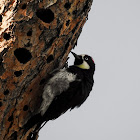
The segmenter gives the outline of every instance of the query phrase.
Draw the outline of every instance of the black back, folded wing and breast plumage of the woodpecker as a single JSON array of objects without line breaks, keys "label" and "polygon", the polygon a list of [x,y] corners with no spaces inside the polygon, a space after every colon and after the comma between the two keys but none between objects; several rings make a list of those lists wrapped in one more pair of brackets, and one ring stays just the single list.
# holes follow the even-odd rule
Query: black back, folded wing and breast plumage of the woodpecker
[{"label": "black back, folded wing and breast plumage of the woodpecker", "polygon": [[92,90],[94,83],[92,71],[83,70],[76,66],[70,66],[67,71],[76,74],[76,80],[70,83],[70,87],[65,92],[52,101],[44,115],[48,120],[58,118],[68,109],[81,106]]}]

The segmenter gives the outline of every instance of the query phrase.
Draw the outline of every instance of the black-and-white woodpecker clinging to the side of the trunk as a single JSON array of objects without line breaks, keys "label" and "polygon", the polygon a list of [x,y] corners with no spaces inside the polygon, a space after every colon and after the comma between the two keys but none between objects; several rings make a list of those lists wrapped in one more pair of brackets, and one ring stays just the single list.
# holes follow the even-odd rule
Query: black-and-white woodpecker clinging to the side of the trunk
[{"label": "black-and-white woodpecker clinging to the side of the trunk", "polygon": [[[55,71],[44,86],[37,130],[42,128],[40,126],[44,122],[46,124],[66,111],[80,107],[92,90],[95,72],[93,58],[85,54],[71,53],[75,58],[74,64]],[[50,104],[48,95],[52,97]]]}]

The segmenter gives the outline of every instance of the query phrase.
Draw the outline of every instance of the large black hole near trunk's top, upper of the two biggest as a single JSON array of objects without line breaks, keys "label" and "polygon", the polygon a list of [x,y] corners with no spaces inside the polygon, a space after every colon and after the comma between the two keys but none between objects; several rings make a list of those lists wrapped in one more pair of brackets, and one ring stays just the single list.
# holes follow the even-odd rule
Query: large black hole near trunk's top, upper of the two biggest
[{"label": "large black hole near trunk's top, upper of the two biggest", "polygon": [[50,9],[39,9],[36,15],[43,22],[51,23],[54,20],[54,13]]}]

